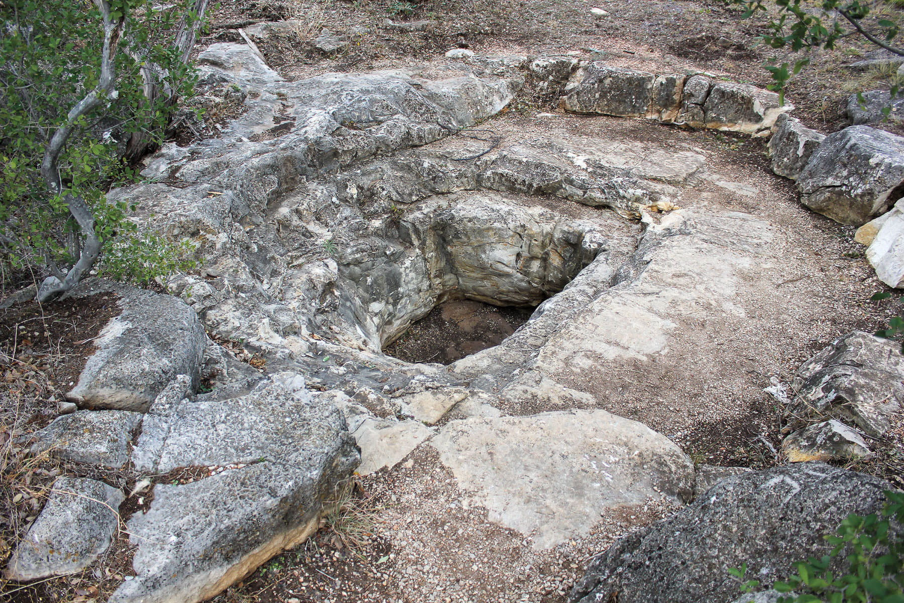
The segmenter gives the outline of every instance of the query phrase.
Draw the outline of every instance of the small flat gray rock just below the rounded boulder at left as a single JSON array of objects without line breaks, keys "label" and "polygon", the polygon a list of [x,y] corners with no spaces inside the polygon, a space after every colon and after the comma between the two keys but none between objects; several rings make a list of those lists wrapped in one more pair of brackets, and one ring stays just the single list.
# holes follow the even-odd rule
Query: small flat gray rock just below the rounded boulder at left
[{"label": "small flat gray rock just below the rounded boulder at left", "polygon": [[119,468],[128,462],[128,443],[141,422],[140,412],[80,410],[54,419],[34,437],[32,454]]}]

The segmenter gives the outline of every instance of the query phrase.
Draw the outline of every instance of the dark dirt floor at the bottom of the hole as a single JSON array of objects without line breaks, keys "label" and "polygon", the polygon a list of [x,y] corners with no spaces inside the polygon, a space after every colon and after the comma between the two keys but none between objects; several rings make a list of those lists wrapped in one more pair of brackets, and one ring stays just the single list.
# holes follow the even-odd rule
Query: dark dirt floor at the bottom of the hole
[{"label": "dark dirt floor at the bottom of the hole", "polygon": [[383,352],[406,363],[454,363],[503,343],[533,310],[532,306],[493,306],[471,299],[443,302]]}]

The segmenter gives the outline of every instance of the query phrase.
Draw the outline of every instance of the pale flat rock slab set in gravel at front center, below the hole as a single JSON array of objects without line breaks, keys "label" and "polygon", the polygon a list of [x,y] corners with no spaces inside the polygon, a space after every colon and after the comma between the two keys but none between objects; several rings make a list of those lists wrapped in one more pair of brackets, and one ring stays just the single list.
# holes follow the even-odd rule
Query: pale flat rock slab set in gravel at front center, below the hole
[{"label": "pale flat rock slab set in gravel at front center, below the hole", "polygon": [[456,420],[430,445],[490,521],[530,534],[539,548],[647,497],[692,496],[693,463],[680,448],[605,410]]}]

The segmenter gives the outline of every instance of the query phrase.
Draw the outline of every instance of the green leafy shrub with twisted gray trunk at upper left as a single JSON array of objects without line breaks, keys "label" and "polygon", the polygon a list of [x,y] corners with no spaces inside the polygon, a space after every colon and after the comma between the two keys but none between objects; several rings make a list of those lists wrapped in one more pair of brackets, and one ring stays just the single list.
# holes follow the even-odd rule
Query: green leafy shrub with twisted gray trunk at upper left
[{"label": "green leafy shrub with twisted gray trunk at upper left", "polygon": [[[159,142],[173,99],[193,94],[194,71],[175,38],[193,31],[196,2],[0,2],[0,269],[63,275],[90,245],[108,254],[108,274],[172,269],[152,253],[125,266],[137,248],[163,259],[182,248],[141,234],[128,220],[134,208],[104,193],[137,179],[123,160],[128,147]],[[54,139],[62,143],[52,151]]]}]

